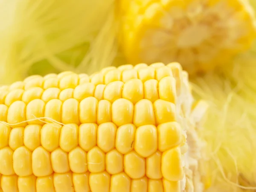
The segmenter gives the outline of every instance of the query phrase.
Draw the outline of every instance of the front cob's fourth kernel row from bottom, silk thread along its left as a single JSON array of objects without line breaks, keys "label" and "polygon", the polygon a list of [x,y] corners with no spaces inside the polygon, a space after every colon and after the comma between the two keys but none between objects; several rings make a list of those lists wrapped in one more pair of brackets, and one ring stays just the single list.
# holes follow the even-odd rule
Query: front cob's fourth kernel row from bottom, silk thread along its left
[{"label": "front cob's fourth kernel row from bottom, silk thread along its left", "polygon": [[77,125],[81,123],[100,125],[112,121],[117,126],[133,123],[139,127],[176,121],[176,116],[175,105],[162,99],[157,99],[154,103],[142,99],[135,105],[123,98],[111,104],[108,100],[98,102],[95,97],[87,97],[81,102],[73,98],[64,102],[52,99],[47,103],[41,99],[34,99],[27,105],[22,101],[15,101],[9,108],[0,105],[0,121],[14,124],[13,127],[27,124],[44,125],[43,120]]}]

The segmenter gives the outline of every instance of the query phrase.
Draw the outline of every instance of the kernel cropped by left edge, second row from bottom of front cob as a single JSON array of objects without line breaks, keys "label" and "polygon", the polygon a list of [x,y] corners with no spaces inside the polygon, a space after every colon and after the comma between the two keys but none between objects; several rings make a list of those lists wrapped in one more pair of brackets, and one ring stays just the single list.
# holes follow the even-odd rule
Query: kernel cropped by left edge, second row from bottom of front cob
[{"label": "kernel cropped by left edge, second row from bottom of front cob", "polygon": [[0,149],[0,174],[13,175],[15,174],[12,161],[13,151],[9,147]]}]

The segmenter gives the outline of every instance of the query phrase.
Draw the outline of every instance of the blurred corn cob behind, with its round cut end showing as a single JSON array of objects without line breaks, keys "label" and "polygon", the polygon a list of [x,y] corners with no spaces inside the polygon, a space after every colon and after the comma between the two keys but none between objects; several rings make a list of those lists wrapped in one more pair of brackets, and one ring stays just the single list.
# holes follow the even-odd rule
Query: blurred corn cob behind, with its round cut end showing
[{"label": "blurred corn cob behind, with its round cut end showing", "polygon": [[255,38],[247,0],[122,0],[122,47],[132,64],[180,62],[189,73],[224,65]]}]

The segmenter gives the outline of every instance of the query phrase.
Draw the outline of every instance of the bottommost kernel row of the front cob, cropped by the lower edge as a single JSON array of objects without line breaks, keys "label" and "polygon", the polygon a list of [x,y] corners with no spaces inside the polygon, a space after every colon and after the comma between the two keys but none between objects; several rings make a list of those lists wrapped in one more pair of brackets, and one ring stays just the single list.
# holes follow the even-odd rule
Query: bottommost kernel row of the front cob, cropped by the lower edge
[{"label": "bottommost kernel row of the front cob, cropped by the lower edge", "polygon": [[[54,173],[46,177],[0,175],[7,192],[180,192],[180,183],[166,179],[131,179],[125,173]],[[1,189],[0,189],[1,191]]]}]

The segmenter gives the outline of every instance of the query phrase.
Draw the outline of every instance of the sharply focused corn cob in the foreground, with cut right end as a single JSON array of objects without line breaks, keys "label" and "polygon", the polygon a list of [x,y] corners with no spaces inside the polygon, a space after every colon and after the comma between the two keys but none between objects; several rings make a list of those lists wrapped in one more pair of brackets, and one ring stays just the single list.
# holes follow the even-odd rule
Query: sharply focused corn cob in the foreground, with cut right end
[{"label": "sharply focused corn cob in the foreground, with cut right end", "polygon": [[0,87],[0,190],[200,192],[192,102],[177,63]]}]

